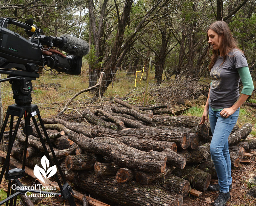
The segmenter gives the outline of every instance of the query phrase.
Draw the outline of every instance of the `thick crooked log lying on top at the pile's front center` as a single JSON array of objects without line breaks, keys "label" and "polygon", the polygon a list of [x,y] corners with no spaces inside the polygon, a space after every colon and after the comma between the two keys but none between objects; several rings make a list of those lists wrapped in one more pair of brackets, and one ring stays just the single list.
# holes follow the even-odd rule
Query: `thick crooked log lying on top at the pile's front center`
[{"label": "thick crooked log lying on top at the pile's front center", "polygon": [[70,132],[68,138],[88,152],[108,156],[120,167],[156,173],[163,172],[166,167],[166,156],[143,152],[112,138],[89,139],[75,132]]}]

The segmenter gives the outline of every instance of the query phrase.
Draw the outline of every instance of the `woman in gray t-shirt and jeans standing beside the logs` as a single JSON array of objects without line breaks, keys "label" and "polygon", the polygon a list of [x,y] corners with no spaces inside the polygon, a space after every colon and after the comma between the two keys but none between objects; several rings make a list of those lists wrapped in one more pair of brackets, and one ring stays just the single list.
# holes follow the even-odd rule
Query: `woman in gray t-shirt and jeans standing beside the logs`
[{"label": "woman in gray t-shirt and jeans standing beside the logs", "polygon": [[[254,88],[244,52],[238,48],[228,24],[224,21],[212,23],[207,29],[207,40],[208,55],[212,46],[209,65],[212,83],[199,124],[208,122],[209,115],[213,134],[210,152],[219,181],[219,185],[210,185],[209,189],[220,191],[212,205],[224,206],[230,198],[229,191],[232,188],[228,136],[238,119],[239,107]],[[240,78],[243,90],[239,98]]]}]

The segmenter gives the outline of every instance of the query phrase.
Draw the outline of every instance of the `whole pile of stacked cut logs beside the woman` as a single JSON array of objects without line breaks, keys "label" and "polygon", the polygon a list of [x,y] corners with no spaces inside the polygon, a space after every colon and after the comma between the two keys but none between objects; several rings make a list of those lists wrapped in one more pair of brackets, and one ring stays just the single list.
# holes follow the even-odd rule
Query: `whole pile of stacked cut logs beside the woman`
[{"label": "whole pile of stacked cut logs beside the woman", "polygon": [[[211,178],[217,178],[209,151],[210,126],[198,125],[200,117],[159,115],[174,113],[167,104],[135,107],[115,101],[111,109],[84,110],[81,114],[90,124],[43,118],[70,183],[120,205],[181,206],[190,187],[205,191]],[[251,131],[246,123],[228,138],[235,167],[244,155],[241,144],[248,149],[256,145],[240,141]],[[22,158],[24,141],[19,130],[13,157]],[[26,164],[34,168],[44,155],[36,132],[28,144]]]}]

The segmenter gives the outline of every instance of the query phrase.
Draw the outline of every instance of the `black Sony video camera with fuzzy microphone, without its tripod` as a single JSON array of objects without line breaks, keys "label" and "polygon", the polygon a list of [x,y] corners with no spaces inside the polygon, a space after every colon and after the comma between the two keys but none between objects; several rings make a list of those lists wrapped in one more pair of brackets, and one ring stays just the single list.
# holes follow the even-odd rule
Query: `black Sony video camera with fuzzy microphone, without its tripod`
[{"label": "black Sony video camera with fuzzy microphone, without its tripod", "polygon": [[[27,40],[7,29],[8,24],[24,28],[31,37]],[[33,25],[33,19],[26,23],[12,18],[0,18],[0,68],[38,72],[39,66],[47,65],[58,72],[79,75],[82,67],[82,56],[89,51],[89,45],[82,39],[70,35],[60,37],[42,35],[42,29]],[[47,48],[45,48],[45,46]],[[58,47],[68,53],[66,58],[52,54],[47,56],[43,52],[52,47]],[[49,69],[46,69],[49,70]]]}]

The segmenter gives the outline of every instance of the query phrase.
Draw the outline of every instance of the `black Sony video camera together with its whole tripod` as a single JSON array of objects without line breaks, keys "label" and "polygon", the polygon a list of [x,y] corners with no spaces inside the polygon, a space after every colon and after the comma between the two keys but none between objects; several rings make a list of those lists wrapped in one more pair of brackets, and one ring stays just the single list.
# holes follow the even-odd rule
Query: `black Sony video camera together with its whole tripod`
[{"label": "black Sony video camera together with its whole tripod", "polygon": [[[16,32],[7,29],[8,24],[13,24],[24,28],[27,34],[31,37],[27,40]],[[71,75],[79,75],[82,67],[82,56],[88,53],[89,45],[85,41],[69,35],[63,35],[60,37],[41,35],[42,30],[36,28],[36,25],[32,25],[33,20],[28,20],[26,23],[23,23],[17,20],[13,20],[12,18],[0,18],[0,68],[2,68],[0,69],[0,74],[8,75],[7,78],[0,79],[0,82],[10,82],[12,85],[13,99],[15,99],[16,103],[9,105],[6,111],[4,124],[0,131],[0,138],[2,138],[8,123],[8,119],[10,117],[8,152],[6,154],[4,165],[2,166],[0,173],[0,183],[2,182],[4,174],[5,179],[8,179],[9,183],[7,198],[2,200],[0,205],[6,203],[6,205],[15,206],[18,195],[25,195],[27,192],[31,192],[37,194],[43,193],[57,195],[58,197],[62,197],[64,200],[67,200],[70,206],[76,206],[75,200],[73,198],[74,192],[72,187],[66,182],[65,176],[61,171],[60,164],[54,153],[52,144],[47,135],[47,131],[44,127],[39,108],[37,105],[31,104],[31,81],[36,80],[36,78],[39,77],[39,74],[37,73],[39,67],[41,66],[45,68],[46,65],[51,69],[56,69],[58,72],[65,72],[66,74]],[[47,48],[45,48],[45,46]],[[67,52],[67,56],[64,58],[61,55],[54,53],[51,56],[46,55],[45,52],[49,51],[52,47],[58,47],[61,50]],[[19,71],[12,70],[12,68],[16,68]],[[52,152],[55,165],[57,166],[62,182],[64,183],[62,185],[60,178],[58,177],[57,173],[55,173],[54,176],[60,188],[60,193],[30,190],[29,188],[22,189],[25,187],[21,184],[20,178],[25,175],[26,152],[23,154],[22,169],[14,168],[9,170],[10,155],[22,117],[24,117],[25,121],[23,132],[26,135],[24,151],[27,151],[28,136],[32,135],[33,128],[30,125],[30,120],[32,119],[42,147],[44,148],[45,156],[50,162],[50,165],[54,167],[52,157],[49,155],[49,151],[46,148],[43,136],[37,125],[37,120],[35,118],[36,115],[44,132],[46,142],[48,143],[48,146]],[[12,134],[14,116],[18,117],[18,120]],[[12,184],[19,187],[12,188]]]}]

